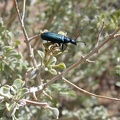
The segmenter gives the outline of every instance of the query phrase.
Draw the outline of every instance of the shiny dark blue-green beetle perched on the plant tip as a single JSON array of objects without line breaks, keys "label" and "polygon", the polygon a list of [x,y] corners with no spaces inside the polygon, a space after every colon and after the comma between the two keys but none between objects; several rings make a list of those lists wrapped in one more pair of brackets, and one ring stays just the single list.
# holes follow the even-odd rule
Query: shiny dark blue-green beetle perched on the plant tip
[{"label": "shiny dark blue-green beetle perched on the plant tip", "polygon": [[[78,38],[78,36],[77,36],[77,38]],[[52,33],[52,32],[42,33],[41,39],[46,40],[46,41],[50,41],[52,43],[58,43],[58,45],[61,46],[62,51],[64,51],[67,48],[67,43],[77,45],[76,39],[70,39],[64,35],[56,34],[56,33]]]}]

